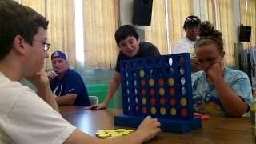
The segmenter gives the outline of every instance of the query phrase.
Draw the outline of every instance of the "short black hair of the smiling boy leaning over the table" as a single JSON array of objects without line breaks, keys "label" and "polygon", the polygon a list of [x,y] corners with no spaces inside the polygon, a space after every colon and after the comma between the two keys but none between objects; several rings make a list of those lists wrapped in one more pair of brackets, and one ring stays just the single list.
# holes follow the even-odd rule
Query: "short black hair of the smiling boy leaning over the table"
[{"label": "short black hair of the smiling boy leaning over the table", "polygon": [[129,36],[134,36],[138,40],[138,33],[136,32],[134,26],[124,25],[120,26],[118,30],[115,31],[114,38],[115,42],[119,46],[119,42],[126,39]]}]

